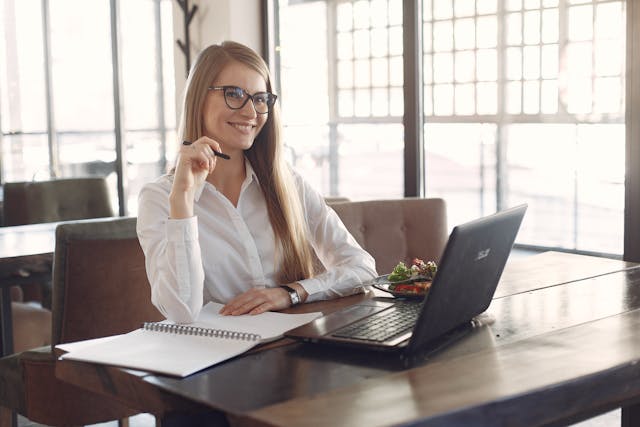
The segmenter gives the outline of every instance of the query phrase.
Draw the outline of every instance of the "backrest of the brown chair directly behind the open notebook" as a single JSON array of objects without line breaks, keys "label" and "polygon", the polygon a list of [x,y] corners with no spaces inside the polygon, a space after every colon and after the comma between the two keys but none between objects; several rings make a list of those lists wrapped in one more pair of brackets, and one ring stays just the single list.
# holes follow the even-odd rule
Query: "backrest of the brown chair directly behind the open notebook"
[{"label": "backrest of the brown chair directly behind the open notebook", "polygon": [[61,224],[53,259],[52,345],[162,320],[151,303],[136,218]]}]

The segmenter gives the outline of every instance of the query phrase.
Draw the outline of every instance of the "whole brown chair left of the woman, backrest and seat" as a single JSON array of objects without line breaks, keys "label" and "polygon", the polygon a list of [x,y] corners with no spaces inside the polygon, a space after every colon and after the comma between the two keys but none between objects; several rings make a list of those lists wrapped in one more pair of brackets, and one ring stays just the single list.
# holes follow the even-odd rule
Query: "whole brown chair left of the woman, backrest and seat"
[{"label": "whole brown chair left of the woman, backrest and seat", "polygon": [[47,425],[84,425],[136,411],[59,381],[54,346],[129,332],[163,317],[151,304],[135,218],[56,229],[51,346],[0,359],[0,426],[11,411]]}]

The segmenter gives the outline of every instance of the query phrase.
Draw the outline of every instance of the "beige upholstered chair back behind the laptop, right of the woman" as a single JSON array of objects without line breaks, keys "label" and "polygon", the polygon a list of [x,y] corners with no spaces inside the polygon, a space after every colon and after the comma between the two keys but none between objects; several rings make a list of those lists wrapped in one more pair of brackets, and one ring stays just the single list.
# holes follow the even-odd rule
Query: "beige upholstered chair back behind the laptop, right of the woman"
[{"label": "beige upholstered chair back behind the laptop, right of the woman", "polygon": [[368,200],[330,205],[380,274],[413,258],[438,262],[447,243],[447,211],[438,198]]}]

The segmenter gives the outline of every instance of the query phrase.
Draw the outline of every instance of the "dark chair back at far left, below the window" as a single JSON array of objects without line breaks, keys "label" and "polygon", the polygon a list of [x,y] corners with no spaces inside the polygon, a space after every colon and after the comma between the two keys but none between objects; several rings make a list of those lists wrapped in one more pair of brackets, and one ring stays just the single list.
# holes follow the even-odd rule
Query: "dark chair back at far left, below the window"
[{"label": "dark chair back at far left, below the window", "polygon": [[3,188],[4,225],[115,215],[103,177],[7,182]]}]

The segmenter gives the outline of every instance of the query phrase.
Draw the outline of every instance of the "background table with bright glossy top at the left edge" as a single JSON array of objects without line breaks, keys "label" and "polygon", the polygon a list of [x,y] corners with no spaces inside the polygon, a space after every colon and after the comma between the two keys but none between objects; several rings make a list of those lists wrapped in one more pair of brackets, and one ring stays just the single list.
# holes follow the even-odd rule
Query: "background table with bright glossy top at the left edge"
[{"label": "background table with bright glossy top at the left edge", "polygon": [[51,271],[58,224],[0,227],[0,357],[13,353],[10,288],[23,281],[16,272]]}]

